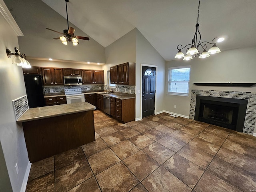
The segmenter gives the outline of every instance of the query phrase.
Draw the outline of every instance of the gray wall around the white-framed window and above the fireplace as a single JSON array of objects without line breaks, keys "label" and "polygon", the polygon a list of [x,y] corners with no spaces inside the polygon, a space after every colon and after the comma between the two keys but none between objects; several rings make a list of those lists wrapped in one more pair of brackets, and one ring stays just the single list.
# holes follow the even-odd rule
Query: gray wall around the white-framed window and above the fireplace
[{"label": "gray wall around the white-framed window and above the fireplace", "polygon": [[[256,92],[256,86],[244,87],[218,87],[218,86],[195,86],[193,82],[233,82],[255,83],[256,82],[256,47],[242,48],[223,51],[205,59],[194,58],[187,62],[172,60],[166,62],[165,84],[165,110],[184,116],[189,116],[190,95],[192,89],[200,90],[228,90]],[[167,95],[168,68],[191,65],[190,93],[189,96]],[[177,106],[174,109],[174,105]]]}]

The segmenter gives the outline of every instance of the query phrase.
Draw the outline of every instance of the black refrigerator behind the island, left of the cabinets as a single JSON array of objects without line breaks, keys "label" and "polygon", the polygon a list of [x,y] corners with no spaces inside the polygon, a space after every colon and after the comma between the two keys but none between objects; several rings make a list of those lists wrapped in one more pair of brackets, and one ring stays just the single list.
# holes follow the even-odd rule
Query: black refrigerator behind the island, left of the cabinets
[{"label": "black refrigerator behind the island, left of the cabinets", "polygon": [[44,100],[42,76],[34,74],[24,74],[24,81],[28,98],[28,107],[35,108],[46,106]]}]

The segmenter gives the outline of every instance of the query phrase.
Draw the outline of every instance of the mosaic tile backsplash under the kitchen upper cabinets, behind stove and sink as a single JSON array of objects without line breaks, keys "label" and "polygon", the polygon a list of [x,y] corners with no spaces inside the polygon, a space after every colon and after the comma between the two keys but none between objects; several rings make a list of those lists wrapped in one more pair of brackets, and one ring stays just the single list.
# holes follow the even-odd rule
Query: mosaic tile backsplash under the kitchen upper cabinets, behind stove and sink
[{"label": "mosaic tile backsplash under the kitchen upper cabinets, behind stove and sink", "polygon": [[[81,88],[82,92],[93,92],[93,91],[100,91],[105,89],[105,85],[73,85],[73,86],[44,86],[44,94],[49,93],[60,93],[64,94],[64,89],[76,89]],[[89,90],[88,90],[89,88]],[[109,88],[109,90],[118,91],[116,89],[119,89],[118,92],[125,93],[131,93],[136,94],[136,86],[128,86],[128,85],[116,85],[116,88]],[[52,92],[51,92],[52,90]],[[131,92],[130,92],[131,90]]]}]

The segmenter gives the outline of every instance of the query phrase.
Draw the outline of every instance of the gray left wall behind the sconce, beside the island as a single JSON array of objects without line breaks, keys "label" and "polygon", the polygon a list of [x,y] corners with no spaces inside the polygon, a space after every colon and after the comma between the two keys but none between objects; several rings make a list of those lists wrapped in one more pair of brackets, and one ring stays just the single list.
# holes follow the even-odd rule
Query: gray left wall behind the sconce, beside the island
[{"label": "gray left wall behind the sconce, beside the island", "polygon": [[[7,167],[12,190],[18,192],[29,161],[23,129],[21,124],[16,124],[12,100],[26,95],[26,89],[22,68],[12,64],[12,58],[6,55],[6,48],[14,52],[14,47],[18,47],[18,38],[2,14],[0,14],[0,28],[4,29],[0,31],[0,142],[6,165],[3,165],[2,161],[0,163],[1,167]],[[16,163],[19,168],[18,174],[14,167]],[[8,188],[8,174],[1,169],[0,186],[6,185]]]}]

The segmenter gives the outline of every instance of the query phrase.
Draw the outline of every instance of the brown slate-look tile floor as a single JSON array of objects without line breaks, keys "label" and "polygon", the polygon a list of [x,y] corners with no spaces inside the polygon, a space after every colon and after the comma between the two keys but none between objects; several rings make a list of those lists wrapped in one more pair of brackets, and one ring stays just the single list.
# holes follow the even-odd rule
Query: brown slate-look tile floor
[{"label": "brown slate-look tile floor", "polygon": [[166,113],[94,122],[95,142],[32,164],[26,192],[256,191],[256,137]]}]

